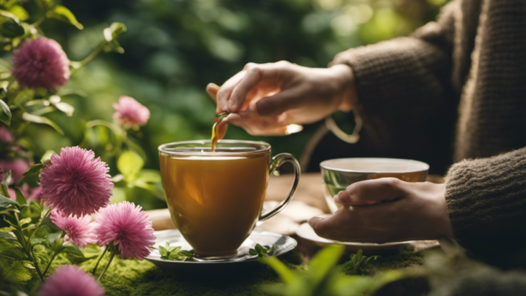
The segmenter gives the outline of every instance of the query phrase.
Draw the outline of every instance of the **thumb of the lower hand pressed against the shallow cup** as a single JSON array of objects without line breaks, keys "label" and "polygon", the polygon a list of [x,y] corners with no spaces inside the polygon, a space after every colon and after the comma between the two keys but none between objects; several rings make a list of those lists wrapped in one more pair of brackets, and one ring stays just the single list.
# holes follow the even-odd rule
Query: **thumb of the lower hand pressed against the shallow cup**
[{"label": "thumb of the lower hand pressed against the shallow cup", "polygon": [[364,205],[392,201],[405,193],[405,182],[397,178],[379,178],[351,184],[334,196],[334,201],[342,205]]}]

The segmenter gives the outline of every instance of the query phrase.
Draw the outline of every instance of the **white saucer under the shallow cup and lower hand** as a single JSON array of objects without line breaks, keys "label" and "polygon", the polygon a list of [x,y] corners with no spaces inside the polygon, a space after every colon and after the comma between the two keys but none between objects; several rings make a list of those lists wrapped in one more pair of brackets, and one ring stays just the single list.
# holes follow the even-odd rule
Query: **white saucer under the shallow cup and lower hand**
[{"label": "white saucer under the shallow cup and lower hand", "polygon": [[314,229],[311,228],[311,225],[309,225],[309,223],[303,223],[302,225],[300,225],[298,230],[296,230],[296,234],[298,234],[298,237],[307,241],[312,241],[318,246],[343,245],[345,246],[345,249],[351,252],[356,252],[360,249],[364,252],[395,250],[414,242],[397,241],[394,243],[356,243],[350,241],[332,241],[330,239],[324,239],[323,237],[318,236],[318,234],[314,232]]}]

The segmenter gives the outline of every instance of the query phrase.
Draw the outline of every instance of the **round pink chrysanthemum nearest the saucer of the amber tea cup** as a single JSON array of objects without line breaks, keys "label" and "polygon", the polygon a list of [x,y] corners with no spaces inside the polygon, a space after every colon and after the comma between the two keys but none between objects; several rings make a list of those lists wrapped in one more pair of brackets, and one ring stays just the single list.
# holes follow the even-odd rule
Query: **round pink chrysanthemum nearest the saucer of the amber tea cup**
[{"label": "round pink chrysanthemum nearest the saucer of the amber tea cup", "polygon": [[120,254],[124,258],[143,260],[154,246],[154,229],[152,220],[145,212],[141,212],[140,205],[123,201],[109,205],[100,210],[96,219],[95,232],[99,246],[108,246],[114,241]]}]

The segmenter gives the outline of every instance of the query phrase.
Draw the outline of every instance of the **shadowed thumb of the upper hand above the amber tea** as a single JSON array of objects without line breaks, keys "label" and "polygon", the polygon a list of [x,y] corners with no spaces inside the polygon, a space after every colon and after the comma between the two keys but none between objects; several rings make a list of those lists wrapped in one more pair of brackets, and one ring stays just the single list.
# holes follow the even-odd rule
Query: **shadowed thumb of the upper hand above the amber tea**
[{"label": "shadowed thumb of the upper hand above the amber tea", "polygon": [[294,104],[298,96],[299,94],[295,89],[286,89],[257,101],[255,109],[260,116],[280,115],[295,107]]}]

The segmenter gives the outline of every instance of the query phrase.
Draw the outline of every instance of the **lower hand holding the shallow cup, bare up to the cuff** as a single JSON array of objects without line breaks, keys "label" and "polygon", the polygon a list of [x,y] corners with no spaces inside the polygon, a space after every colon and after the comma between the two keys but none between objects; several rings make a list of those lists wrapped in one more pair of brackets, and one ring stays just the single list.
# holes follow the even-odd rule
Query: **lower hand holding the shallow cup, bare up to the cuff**
[{"label": "lower hand holding the shallow cup, bare up to the cuff", "polygon": [[320,236],[338,241],[387,243],[453,237],[446,185],[379,178],[354,183],[334,201],[344,205],[309,224]]}]

